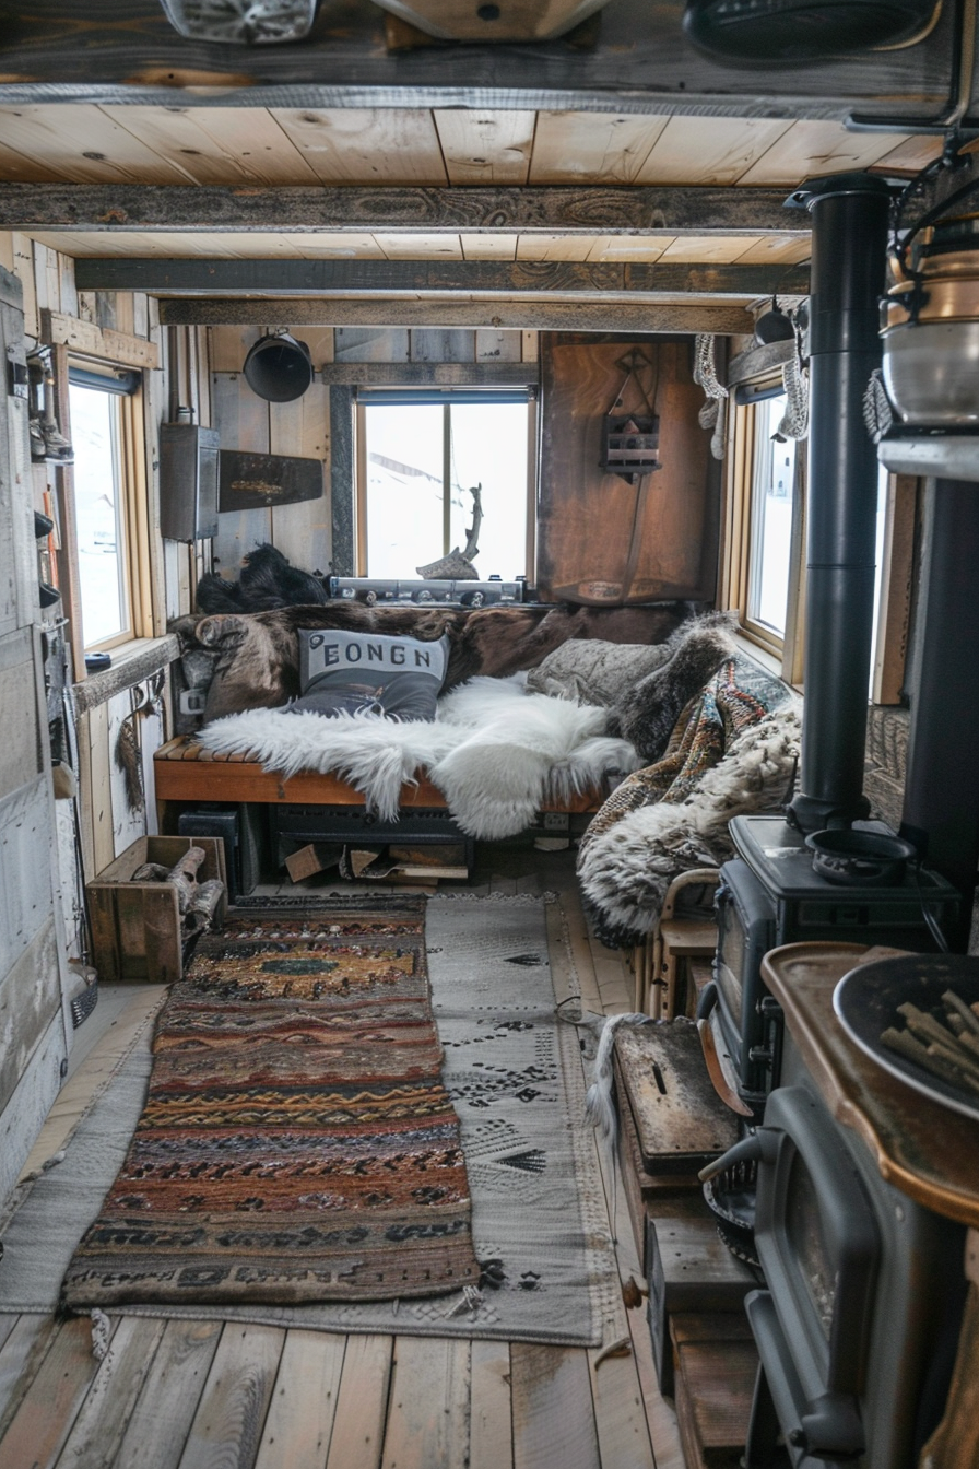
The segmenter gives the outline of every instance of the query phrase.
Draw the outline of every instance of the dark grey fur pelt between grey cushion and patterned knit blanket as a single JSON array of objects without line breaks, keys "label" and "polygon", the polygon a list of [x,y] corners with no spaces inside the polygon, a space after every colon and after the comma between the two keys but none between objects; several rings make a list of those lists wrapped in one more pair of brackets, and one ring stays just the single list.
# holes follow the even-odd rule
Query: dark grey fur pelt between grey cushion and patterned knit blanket
[{"label": "dark grey fur pelt between grey cushion and patterned knit blanket", "polygon": [[734,652],[734,627],[729,613],[706,613],[683,623],[668,639],[672,651],[666,663],[616,708],[621,733],[649,765],[663,755],[684,705]]}]

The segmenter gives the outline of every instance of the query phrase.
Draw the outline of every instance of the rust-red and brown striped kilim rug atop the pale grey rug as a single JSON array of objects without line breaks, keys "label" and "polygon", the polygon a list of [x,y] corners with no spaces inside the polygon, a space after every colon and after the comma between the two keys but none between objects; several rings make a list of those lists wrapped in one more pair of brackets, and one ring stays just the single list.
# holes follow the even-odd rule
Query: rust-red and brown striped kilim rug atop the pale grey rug
[{"label": "rust-red and brown striped kilim rug atop the pale grey rug", "polygon": [[236,909],[160,1012],[142,1115],[68,1307],[476,1285],[424,900]]}]

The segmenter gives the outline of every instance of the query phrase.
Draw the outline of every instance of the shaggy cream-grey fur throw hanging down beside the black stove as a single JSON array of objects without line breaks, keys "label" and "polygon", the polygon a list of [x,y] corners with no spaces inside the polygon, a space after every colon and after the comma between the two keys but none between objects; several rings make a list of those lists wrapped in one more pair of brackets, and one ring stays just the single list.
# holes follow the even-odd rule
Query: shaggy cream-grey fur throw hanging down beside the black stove
[{"label": "shaggy cream-grey fur throw hanging down beside the black stove", "polygon": [[638,943],[656,927],[674,877],[732,856],[731,817],[781,808],[800,739],[801,711],[790,704],[744,730],[694,796],[640,806],[583,846],[581,892],[602,915],[605,943]]}]

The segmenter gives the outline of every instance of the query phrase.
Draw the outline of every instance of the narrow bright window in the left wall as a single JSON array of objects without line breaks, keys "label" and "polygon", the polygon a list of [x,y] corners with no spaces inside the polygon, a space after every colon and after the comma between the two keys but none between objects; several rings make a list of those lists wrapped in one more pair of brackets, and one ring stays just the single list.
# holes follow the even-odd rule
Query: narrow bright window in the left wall
[{"label": "narrow bright window in the left wall", "polygon": [[[87,649],[144,636],[135,435],[139,375],[69,367],[78,595]],[[142,524],[141,524],[142,521]]]}]

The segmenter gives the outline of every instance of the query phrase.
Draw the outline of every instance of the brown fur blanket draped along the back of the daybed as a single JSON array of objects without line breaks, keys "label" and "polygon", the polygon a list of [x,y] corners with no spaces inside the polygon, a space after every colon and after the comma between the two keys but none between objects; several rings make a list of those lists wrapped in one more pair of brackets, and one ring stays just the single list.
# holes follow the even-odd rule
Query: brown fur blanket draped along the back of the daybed
[{"label": "brown fur blanket draped along the back of the daybed", "polygon": [[182,617],[173,626],[185,643],[217,655],[204,720],[241,710],[270,710],[299,693],[301,627],[343,627],[434,640],[449,636],[445,687],[476,674],[502,679],[533,668],[569,638],[653,643],[696,611],[693,602],[652,607],[486,607],[473,611],[437,607],[367,607],[324,602],[277,611]]}]

